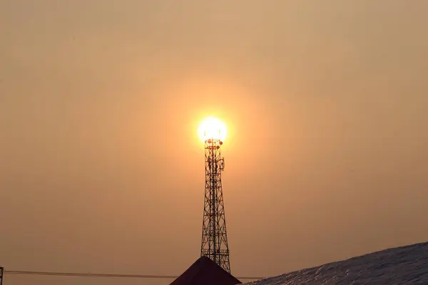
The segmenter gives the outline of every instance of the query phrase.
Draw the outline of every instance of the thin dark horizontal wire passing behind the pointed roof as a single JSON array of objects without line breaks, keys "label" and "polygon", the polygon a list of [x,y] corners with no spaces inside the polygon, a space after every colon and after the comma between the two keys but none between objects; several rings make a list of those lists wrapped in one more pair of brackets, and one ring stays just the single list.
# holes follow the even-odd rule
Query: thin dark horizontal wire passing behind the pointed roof
[{"label": "thin dark horizontal wire passing behind the pointed roof", "polygon": [[[144,279],[175,279],[176,275],[149,275],[149,274],[106,274],[106,273],[77,273],[77,272],[53,272],[53,271],[19,271],[5,270],[5,274],[14,275],[42,275],[42,276],[68,276],[68,277],[102,277],[102,278],[144,278]],[[243,280],[259,280],[265,277],[236,277]]]}]

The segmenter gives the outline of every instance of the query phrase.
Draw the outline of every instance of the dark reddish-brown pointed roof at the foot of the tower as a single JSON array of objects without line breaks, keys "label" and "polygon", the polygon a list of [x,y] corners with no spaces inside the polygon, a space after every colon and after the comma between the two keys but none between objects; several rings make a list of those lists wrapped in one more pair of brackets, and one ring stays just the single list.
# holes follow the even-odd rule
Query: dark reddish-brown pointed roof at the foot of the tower
[{"label": "dark reddish-brown pointed roof at the foot of the tower", "polygon": [[241,283],[208,257],[200,257],[170,285],[235,285]]}]

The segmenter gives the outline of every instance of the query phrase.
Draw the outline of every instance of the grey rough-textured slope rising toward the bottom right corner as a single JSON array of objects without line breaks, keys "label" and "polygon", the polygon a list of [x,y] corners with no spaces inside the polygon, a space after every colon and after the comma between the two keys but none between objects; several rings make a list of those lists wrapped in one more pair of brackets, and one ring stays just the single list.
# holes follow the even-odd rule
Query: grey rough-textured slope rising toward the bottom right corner
[{"label": "grey rough-textured slope rising toward the bottom right corner", "polygon": [[428,242],[249,282],[251,285],[428,285]]}]

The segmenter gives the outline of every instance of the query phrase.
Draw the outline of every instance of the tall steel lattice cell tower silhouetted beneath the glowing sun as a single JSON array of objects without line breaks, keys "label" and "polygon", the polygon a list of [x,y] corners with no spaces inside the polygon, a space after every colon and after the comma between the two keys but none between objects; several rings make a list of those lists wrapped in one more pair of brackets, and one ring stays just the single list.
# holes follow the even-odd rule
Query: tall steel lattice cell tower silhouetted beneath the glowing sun
[{"label": "tall steel lattice cell tower silhouetted beneath the glowing sun", "polygon": [[203,209],[200,256],[208,257],[230,273],[225,206],[221,185],[224,158],[220,156],[221,140],[205,140],[205,202]]}]

